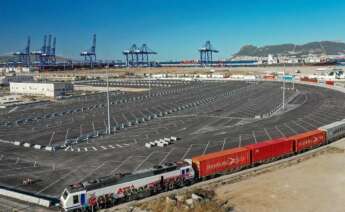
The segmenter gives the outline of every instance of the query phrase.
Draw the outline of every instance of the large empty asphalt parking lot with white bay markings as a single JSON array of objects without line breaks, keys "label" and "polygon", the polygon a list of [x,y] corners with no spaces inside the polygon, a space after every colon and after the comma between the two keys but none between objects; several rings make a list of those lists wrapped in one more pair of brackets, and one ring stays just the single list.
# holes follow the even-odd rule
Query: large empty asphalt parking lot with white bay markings
[{"label": "large empty asphalt parking lot with white bay markings", "polygon": [[[104,134],[104,94],[2,114],[0,183],[58,196],[71,183],[289,136],[345,116],[344,94],[305,85],[293,90],[290,84],[288,110],[283,113],[281,86],[276,82],[191,82],[157,87],[150,93],[114,92],[111,135]],[[32,121],[17,123],[19,119]],[[63,146],[66,140],[87,134],[97,136],[55,152],[6,143]],[[145,143],[170,137],[179,139],[164,147],[145,147]],[[34,183],[23,185],[27,177]]]}]

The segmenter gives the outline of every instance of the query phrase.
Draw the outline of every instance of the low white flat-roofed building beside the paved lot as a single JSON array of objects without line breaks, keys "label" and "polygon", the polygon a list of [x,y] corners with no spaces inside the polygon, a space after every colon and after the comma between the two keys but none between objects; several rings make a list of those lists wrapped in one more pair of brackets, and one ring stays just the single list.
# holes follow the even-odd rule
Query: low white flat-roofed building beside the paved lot
[{"label": "low white flat-roofed building beside the paved lot", "polygon": [[13,94],[57,97],[70,91],[73,91],[73,85],[70,83],[10,82],[10,92]]}]

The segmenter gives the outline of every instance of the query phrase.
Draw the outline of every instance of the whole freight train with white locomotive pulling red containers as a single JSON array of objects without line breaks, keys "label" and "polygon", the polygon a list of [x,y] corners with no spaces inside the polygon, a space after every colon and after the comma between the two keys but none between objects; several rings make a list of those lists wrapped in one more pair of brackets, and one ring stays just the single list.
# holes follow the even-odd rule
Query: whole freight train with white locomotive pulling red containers
[{"label": "whole freight train with white locomotive pulling red containers", "polygon": [[165,163],[139,172],[76,183],[64,189],[60,205],[65,211],[111,207],[299,154],[344,136],[345,119],[291,137]]}]

